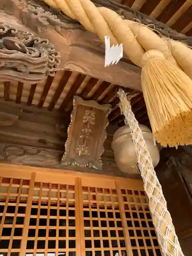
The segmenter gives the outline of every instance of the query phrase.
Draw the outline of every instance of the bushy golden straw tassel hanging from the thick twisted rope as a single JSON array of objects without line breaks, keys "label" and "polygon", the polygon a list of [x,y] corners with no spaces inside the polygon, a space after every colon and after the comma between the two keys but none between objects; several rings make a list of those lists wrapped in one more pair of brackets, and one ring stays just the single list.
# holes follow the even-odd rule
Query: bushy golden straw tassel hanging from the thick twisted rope
[{"label": "bushy golden straw tassel hanging from the thick twisted rope", "polygon": [[192,80],[156,50],[142,58],[141,85],[154,137],[162,146],[192,144]]}]

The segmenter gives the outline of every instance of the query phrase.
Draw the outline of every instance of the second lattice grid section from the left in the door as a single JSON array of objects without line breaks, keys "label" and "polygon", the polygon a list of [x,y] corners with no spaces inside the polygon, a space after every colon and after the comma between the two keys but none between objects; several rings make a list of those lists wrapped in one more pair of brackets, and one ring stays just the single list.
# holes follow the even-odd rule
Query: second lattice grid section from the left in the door
[{"label": "second lattice grid section from the left in the door", "polygon": [[26,252],[75,256],[75,231],[74,185],[35,182]]}]

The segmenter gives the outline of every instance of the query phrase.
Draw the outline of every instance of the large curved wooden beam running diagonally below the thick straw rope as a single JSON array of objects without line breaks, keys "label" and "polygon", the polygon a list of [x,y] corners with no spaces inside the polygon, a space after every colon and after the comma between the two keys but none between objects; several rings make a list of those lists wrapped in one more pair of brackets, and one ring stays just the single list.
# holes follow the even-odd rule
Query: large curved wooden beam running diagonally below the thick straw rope
[{"label": "large curved wooden beam running diagonally below the thick straw rope", "polygon": [[[13,15],[10,16],[10,14],[14,14],[14,26],[21,27],[20,23],[22,23],[28,31],[32,31],[42,38],[47,38],[61,55],[59,66],[61,70],[77,71],[110,83],[141,90],[141,69],[132,65],[129,59],[122,58],[117,65],[104,68],[105,47],[97,35],[84,30],[82,26],[67,16],[58,14],[42,1],[31,1],[30,6],[33,6],[33,9],[28,7],[25,1],[18,5],[13,2],[13,0],[1,1],[0,9],[4,11],[3,14],[1,13],[0,22],[13,26],[10,22]],[[60,21],[58,22],[57,19],[48,14],[48,24],[45,26],[41,19],[45,14],[44,10],[49,13],[52,11],[53,16],[58,16]]]}]

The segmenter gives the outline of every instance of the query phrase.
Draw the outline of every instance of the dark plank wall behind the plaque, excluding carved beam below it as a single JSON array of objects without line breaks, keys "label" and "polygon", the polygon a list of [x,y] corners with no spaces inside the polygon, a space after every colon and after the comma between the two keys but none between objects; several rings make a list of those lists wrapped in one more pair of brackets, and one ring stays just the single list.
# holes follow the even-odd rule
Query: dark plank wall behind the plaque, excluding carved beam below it
[{"label": "dark plank wall behind the plaque, excluding carved beam below it", "polygon": [[[8,125],[8,118],[12,125]],[[1,142],[59,150],[64,153],[70,123],[68,113],[49,112],[36,106],[29,108],[25,104],[0,101],[0,119]],[[117,126],[107,129],[108,136],[104,143],[106,156],[111,159],[114,158],[111,148],[112,132],[116,129]]]}]

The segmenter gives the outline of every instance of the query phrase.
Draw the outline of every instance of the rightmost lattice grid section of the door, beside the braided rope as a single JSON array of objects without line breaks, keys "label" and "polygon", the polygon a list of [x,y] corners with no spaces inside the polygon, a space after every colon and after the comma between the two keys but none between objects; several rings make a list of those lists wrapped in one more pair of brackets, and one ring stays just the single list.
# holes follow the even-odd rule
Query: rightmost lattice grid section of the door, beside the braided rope
[{"label": "rightmost lattice grid section of the door, beside the braided rope", "polygon": [[121,189],[134,256],[161,256],[144,191]]}]

